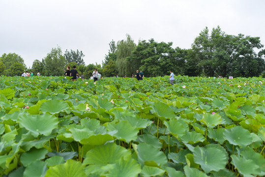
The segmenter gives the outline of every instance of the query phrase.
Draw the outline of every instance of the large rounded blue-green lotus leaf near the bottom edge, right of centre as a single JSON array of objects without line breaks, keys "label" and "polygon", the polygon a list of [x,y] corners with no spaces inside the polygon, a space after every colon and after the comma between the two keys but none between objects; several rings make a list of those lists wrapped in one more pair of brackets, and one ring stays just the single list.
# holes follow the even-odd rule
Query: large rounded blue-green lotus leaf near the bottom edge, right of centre
[{"label": "large rounded blue-green lotus leaf near the bottom edge, right of centre", "polygon": [[194,162],[200,164],[206,173],[225,169],[228,163],[226,150],[219,145],[206,145],[205,147],[194,148]]}]

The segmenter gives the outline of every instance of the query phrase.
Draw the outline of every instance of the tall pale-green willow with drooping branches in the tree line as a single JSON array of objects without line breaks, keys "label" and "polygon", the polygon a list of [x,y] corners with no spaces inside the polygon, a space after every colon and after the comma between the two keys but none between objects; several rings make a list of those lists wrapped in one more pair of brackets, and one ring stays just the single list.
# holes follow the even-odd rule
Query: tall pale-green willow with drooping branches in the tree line
[{"label": "tall pale-green willow with drooping branches in the tree line", "polygon": [[131,62],[128,60],[128,57],[131,56],[136,44],[129,34],[126,34],[126,37],[126,40],[121,40],[117,43],[116,65],[118,67],[118,75],[120,76],[128,76],[136,72],[133,64],[131,64]]}]

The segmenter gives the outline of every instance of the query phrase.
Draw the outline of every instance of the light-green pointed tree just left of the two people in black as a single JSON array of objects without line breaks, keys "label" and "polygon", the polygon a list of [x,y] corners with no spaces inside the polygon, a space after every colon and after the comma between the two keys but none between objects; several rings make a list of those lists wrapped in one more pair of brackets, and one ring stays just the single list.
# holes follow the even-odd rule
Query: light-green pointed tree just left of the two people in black
[{"label": "light-green pointed tree just left of the two people in black", "polygon": [[45,76],[61,76],[66,64],[62,56],[61,48],[52,48],[51,52],[44,58]]}]

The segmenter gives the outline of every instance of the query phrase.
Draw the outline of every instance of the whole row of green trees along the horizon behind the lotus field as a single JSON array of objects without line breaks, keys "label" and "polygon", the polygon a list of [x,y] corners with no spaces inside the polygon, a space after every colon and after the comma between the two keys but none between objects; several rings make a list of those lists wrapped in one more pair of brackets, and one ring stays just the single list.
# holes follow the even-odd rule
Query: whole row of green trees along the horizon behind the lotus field
[{"label": "whole row of green trees along the horizon behind the lotus field", "polygon": [[146,77],[169,75],[254,77],[265,71],[265,49],[260,37],[244,34],[230,35],[217,28],[206,27],[194,39],[190,49],[173,48],[172,42],[154,39],[134,42],[129,34],[117,43],[112,40],[102,64],[84,62],[82,51],[66,50],[57,46],[41,61],[36,59],[27,68],[24,59],[15,53],[0,57],[0,75],[21,75],[25,70],[38,71],[44,76],[61,76],[68,65],[77,66],[80,74],[89,78],[94,70],[104,77],[115,75],[129,77],[136,70],[143,70]]}]

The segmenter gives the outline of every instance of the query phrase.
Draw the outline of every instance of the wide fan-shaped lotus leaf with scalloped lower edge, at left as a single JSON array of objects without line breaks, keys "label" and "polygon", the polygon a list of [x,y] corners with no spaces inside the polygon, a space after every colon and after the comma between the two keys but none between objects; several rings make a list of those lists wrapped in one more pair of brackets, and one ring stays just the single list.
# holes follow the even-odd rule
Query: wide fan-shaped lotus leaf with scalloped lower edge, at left
[{"label": "wide fan-shaped lotus leaf with scalloped lower edge, at left", "polygon": [[58,127],[58,118],[53,115],[20,115],[18,118],[19,125],[25,127],[34,137],[39,134],[49,136],[53,129]]}]

